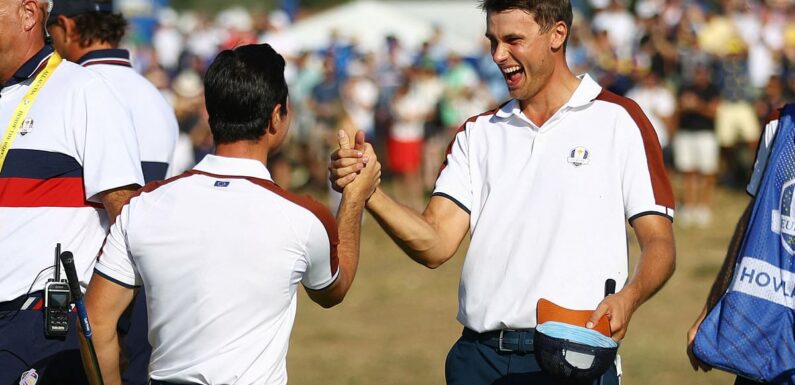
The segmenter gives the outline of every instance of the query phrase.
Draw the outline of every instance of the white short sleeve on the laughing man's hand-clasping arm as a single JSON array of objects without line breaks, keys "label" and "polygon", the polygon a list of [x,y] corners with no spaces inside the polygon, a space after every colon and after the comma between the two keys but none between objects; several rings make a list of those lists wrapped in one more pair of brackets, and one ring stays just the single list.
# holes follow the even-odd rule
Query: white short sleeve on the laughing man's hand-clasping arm
[{"label": "white short sleeve on the laughing man's hand-clasping arm", "polygon": [[472,178],[466,124],[469,123],[458,130],[447,147],[447,156],[436,179],[433,195],[450,199],[469,214],[472,212]]}]

